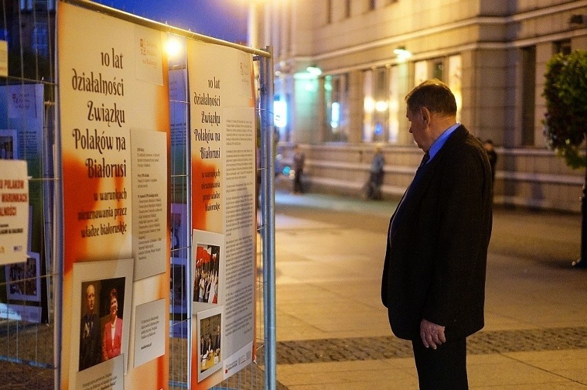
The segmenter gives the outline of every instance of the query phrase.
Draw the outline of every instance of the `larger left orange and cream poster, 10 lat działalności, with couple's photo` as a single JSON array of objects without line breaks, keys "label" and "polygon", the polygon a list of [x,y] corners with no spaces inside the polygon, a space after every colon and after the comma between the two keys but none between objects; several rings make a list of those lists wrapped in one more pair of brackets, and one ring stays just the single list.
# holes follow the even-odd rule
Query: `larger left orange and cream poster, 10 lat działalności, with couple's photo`
[{"label": "larger left orange and cream poster, 10 lat dzia\u0142alno\u015bci, with couple's photo", "polygon": [[[65,2],[58,3],[56,24],[61,389],[94,390],[113,370],[120,388],[165,388],[168,356],[158,347],[137,357],[135,347],[145,346],[145,333],[136,331],[136,308],[141,321],[154,311],[152,317],[169,313],[167,34]],[[163,312],[154,303],[161,300]],[[94,316],[95,325],[82,324]],[[101,331],[84,331],[94,327]],[[167,351],[168,321],[151,327],[156,331],[148,337]],[[96,344],[101,357],[92,354]]]}]

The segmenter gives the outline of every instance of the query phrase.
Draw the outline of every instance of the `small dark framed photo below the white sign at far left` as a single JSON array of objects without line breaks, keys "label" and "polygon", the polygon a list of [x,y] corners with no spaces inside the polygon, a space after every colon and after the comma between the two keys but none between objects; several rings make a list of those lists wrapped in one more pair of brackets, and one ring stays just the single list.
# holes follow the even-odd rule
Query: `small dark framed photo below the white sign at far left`
[{"label": "small dark framed photo below the white sign at far left", "polygon": [[41,302],[41,261],[38,253],[30,253],[24,263],[4,267],[6,296],[10,300]]}]

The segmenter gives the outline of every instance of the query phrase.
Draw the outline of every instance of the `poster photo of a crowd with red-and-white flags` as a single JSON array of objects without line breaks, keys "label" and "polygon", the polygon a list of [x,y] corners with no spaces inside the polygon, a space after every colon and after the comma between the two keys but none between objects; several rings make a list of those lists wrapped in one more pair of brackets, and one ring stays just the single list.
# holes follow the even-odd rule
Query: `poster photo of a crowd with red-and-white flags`
[{"label": "poster photo of a crowd with red-and-white flags", "polygon": [[[223,260],[223,235],[194,230],[194,312],[202,304],[217,305],[220,286],[220,262]],[[196,307],[200,305],[200,307]]]}]

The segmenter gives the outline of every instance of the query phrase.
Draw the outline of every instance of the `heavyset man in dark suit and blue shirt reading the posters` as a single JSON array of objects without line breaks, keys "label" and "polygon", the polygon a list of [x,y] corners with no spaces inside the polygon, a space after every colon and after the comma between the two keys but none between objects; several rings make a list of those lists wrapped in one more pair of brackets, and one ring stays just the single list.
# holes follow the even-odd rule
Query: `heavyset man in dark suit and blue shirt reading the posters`
[{"label": "heavyset man in dark suit and blue shirt reading the posters", "polygon": [[418,85],[406,105],[425,154],[391,217],[382,302],[395,336],[412,341],[420,389],[468,389],[466,337],[484,327],[491,168],[444,83]]}]

